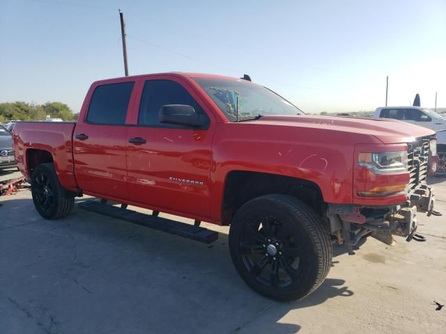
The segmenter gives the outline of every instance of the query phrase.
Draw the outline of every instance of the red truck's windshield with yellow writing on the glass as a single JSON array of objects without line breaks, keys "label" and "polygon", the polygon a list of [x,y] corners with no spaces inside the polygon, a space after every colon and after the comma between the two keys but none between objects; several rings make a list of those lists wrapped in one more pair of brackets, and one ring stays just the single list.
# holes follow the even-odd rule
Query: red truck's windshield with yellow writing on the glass
[{"label": "red truck's windshield with yellow writing on the glass", "polygon": [[302,115],[303,112],[276,93],[243,79],[194,79],[230,122],[264,115]]}]

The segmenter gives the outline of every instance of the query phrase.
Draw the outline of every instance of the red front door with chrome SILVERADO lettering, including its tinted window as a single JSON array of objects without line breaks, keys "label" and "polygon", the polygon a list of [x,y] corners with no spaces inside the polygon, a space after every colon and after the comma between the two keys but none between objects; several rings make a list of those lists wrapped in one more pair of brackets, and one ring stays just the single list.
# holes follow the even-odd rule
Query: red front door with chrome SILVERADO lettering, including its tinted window
[{"label": "red front door with chrome SILVERADO lettering, including its tinted window", "polygon": [[[128,130],[130,200],[164,212],[210,216],[211,145],[215,124],[200,96],[177,79],[142,82],[137,125]],[[207,116],[194,129],[160,123],[160,107],[187,104]]]}]

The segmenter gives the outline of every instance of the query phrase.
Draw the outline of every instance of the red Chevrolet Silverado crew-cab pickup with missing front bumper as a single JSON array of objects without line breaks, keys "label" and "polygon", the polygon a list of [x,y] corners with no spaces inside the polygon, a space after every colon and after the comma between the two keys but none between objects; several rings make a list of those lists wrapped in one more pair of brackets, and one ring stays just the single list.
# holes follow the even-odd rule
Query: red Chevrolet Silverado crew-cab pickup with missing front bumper
[{"label": "red Chevrolet Silverado crew-cab pickup with missing front bumper", "polygon": [[353,254],[368,234],[410,240],[417,213],[433,210],[431,129],[305,116],[249,77],[96,81],[77,123],[18,122],[13,141],[43,217],[66,216],[88,194],[230,225],[240,276],[282,301],[323,283],[332,244]]}]

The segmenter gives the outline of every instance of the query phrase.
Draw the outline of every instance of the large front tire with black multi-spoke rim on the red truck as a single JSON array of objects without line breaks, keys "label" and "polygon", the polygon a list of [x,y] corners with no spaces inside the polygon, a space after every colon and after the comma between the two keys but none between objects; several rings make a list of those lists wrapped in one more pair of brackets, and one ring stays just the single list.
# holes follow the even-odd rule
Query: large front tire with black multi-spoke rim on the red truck
[{"label": "large front tire with black multi-spoke rim on the red truck", "polygon": [[332,244],[321,217],[300,200],[280,194],[254,198],[238,210],[229,250],[245,283],[276,301],[312,293],[332,263]]}]

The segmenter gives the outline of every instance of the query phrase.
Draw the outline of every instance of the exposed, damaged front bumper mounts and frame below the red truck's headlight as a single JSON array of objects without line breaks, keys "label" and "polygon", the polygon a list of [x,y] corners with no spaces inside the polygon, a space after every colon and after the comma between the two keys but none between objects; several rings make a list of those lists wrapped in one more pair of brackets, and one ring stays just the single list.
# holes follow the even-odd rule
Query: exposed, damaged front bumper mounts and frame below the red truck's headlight
[{"label": "exposed, damaged front bumper mounts and frame below the red truck's headlight", "polygon": [[358,207],[357,205],[329,204],[327,216],[330,230],[338,244],[345,244],[349,254],[367,234],[393,245],[393,235],[424,241],[424,237],[416,233],[417,214],[426,213],[440,215],[433,211],[435,197],[433,189],[422,184],[410,192],[403,205]]}]

